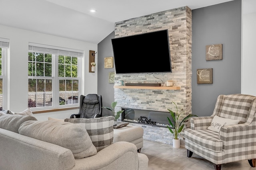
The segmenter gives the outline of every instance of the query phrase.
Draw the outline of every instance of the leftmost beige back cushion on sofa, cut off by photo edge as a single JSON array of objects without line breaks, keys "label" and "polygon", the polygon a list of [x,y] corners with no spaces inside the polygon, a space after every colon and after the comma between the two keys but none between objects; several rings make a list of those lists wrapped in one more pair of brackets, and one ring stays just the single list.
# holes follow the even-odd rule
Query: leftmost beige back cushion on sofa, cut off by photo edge
[{"label": "leftmost beige back cushion on sofa, cut off by photo edge", "polygon": [[11,115],[0,113],[0,128],[6,129],[12,132],[18,132],[20,125],[25,121],[36,121],[36,117],[33,116],[23,116],[23,115]]}]

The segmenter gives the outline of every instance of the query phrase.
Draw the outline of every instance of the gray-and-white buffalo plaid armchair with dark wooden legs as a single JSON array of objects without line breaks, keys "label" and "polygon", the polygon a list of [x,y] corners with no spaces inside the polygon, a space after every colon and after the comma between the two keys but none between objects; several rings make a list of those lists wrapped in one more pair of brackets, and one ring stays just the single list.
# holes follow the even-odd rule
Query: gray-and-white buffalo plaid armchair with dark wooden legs
[{"label": "gray-and-white buffalo plaid armchair with dark wooden legs", "polygon": [[[213,118],[240,120],[238,124],[217,123]],[[215,119],[216,120],[216,119]],[[208,117],[191,117],[191,127],[184,129],[187,156],[193,152],[214,163],[221,164],[248,160],[255,167],[256,158],[256,97],[245,94],[220,95]],[[219,127],[219,132],[209,130]]]}]

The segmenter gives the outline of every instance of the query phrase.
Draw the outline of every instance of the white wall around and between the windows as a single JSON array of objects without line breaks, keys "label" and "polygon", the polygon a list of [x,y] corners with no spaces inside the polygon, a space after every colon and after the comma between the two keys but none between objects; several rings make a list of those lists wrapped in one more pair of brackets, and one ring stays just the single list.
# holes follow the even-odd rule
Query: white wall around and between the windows
[{"label": "white wall around and between the windows", "polygon": [[[64,47],[70,49],[79,49],[84,51],[84,58],[82,59],[82,76],[81,82],[83,84],[81,94],[96,93],[97,94],[97,74],[88,72],[89,65],[89,50],[97,51],[98,45],[56,37],[43,33],[37,33],[24,29],[17,29],[14,27],[7,27],[0,25],[0,37],[10,40],[10,48],[7,57],[7,77],[6,100],[3,102],[4,109],[20,112],[28,107],[28,43],[39,43],[52,45],[57,47]],[[97,56],[95,57],[96,64]],[[67,113],[70,111],[66,111]],[[73,112],[72,113],[76,113]],[[40,113],[48,115],[53,113]],[[54,113],[55,114],[55,113]],[[60,114],[60,113],[59,113]],[[68,115],[70,115],[68,113]],[[49,116],[50,117],[50,116]]]}]

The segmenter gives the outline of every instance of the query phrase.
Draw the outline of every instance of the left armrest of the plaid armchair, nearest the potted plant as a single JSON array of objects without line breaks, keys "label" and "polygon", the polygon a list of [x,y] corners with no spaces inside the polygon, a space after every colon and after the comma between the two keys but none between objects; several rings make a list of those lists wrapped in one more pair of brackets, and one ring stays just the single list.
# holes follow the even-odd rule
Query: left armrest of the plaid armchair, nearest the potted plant
[{"label": "left armrest of the plaid armchair, nearest the potted plant", "polygon": [[192,130],[206,130],[211,125],[212,118],[210,116],[205,117],[190,117],[190,129]]}]

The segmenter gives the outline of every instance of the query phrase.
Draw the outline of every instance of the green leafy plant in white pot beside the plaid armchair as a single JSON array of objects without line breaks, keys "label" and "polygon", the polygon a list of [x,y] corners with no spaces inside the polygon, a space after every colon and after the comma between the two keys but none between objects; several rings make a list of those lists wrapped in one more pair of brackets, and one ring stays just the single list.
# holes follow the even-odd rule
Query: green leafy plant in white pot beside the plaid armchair
[{"label": "green leafy plant in white pot beside the plaid armchair", "polygon": [[[174,103],[174,102],[172,102]],[[175,103],[174,103],[175,104]],[[180,132],[182,131],[183,127],[184,127],[184,124],[182,124],[185,120],[189,119],[190,117],[192,116],[196,116],[197,115],[192,115],[192,114],[189,114],[187,115],[186,117],[184,117],[182,119],[182,117],[180,117],[181,115],[183,115],[184,111],[182,111],[181,113],[178,113],[178,106],[175,104],[176,106],[176,113],[173,112],[172,110],[168,109],[168,111],[170,112],[171,114],[171,117],[173,119],[173,123],[172,121],[170,120],[169,117],[167,117],[170,125],[167,125],[169,131],[173,134],[173,141],[172,141],[172,145],[174,148],[180,148],[180,139],[179,139],[179,134]]]}]

